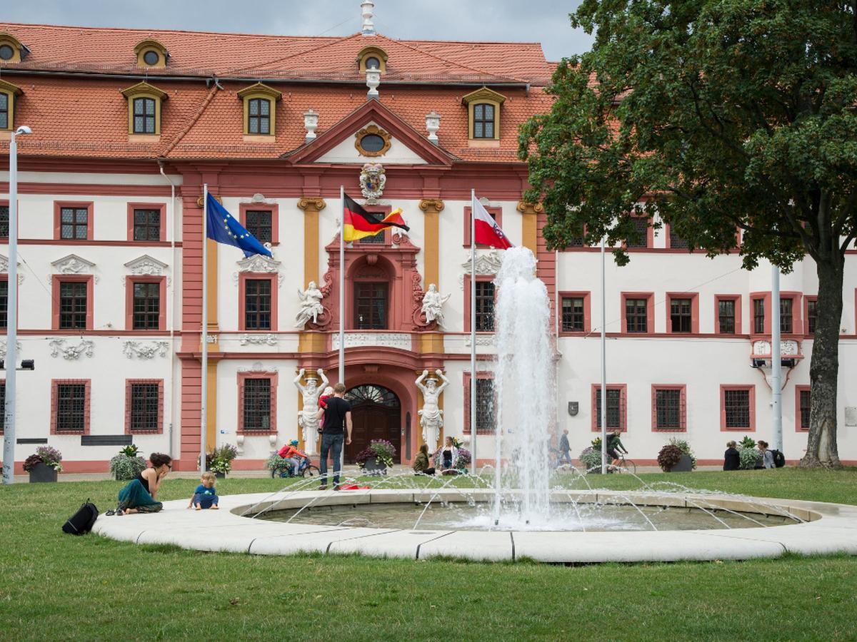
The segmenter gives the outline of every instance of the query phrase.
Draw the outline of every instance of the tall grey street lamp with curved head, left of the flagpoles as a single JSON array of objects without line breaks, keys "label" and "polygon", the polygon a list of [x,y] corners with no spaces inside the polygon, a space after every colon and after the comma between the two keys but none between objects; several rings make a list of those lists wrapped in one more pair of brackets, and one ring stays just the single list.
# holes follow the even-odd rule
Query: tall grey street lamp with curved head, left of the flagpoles
[{"label": "tall grey street lamp with curved head, left of the flagpoles", "polygon": [[15,483],[15,377],[18,366],[18,143],[16,136],[33,134],[27,125],[9,139],[9,295],[6,298],[6,422],[3,431],[3,484]]}]

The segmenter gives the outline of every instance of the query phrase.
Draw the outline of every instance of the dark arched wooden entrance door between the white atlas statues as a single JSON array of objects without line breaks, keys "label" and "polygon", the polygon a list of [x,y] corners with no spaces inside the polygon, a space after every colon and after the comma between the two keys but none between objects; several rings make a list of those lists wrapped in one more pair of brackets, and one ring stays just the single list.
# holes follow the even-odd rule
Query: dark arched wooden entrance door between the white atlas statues
[{"label": "dark arched wooden entrance door between the white atlas statues", "polygon": [[387,439],[396,447],[393,462],[402,462],[402,405],[393,390],[375,383],[363,383],[345,393],[351,403],[351,445],[345,446],[345,463],[353,464],[361,450],[373,439]]}]

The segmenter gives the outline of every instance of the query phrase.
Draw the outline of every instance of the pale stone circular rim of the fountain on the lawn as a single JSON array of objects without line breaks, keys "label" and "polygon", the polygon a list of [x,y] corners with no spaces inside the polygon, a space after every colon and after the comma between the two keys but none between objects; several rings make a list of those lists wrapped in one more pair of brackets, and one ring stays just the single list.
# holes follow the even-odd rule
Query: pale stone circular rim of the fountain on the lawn
[{"label": "pale stone circular rim of the fountain on the lawn", "polygon": [[[469,490],[475,502],[489,493]],[[426,559],[461,557],[478,561],[533,559],[540,562],[674,562],[680,560],[777,557],[786,552],[857,555],[857,506],[696,494],[563,491],[578,504],[696,508],[734,511],[758,521],[783,520],[788,525],[742,528],[646,531],[470,531],[462,528],[336,526],[251,519],[267,511],[308,506],[366,506],[415,502],[461,502],[458,490],[291,491],[223,496],[220,510],[188,510],[186,500],[165,502],[157,514],[99,516],[93,527],[109,538],[136,544],[175,544],[186,549],[231,551],[258,555],[305,552],[361,553],[366,556]],[[555,498],[555,497],[554,497]],[[353,511],[353,509],[352,509]],[[352,512],[352,516],[356,514]],[[719,513],[718,513],[719,514]],[[797,521],[796,521],[797,520]],[[802,521],[800,521],[802,520]],[[749,523],[749,520],[746,520]]]}]

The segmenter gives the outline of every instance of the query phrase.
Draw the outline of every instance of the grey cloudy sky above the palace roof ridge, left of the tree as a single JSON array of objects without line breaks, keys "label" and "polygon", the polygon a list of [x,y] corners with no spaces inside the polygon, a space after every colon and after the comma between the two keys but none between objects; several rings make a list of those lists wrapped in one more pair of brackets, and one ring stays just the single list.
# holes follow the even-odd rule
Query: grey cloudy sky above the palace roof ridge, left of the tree
[{"label": "grey cloudy sky above the palace roof ridge, left of the tree", "polygon": [[[582,53],[592,39],[568,14],[580,0],[376,0],[375,28],[391,38],[541,42],[548,60]],[[344,36],[360,31],[360,0],[28,0],[4,2],[0,20],[84,27],[189,29]]]}]

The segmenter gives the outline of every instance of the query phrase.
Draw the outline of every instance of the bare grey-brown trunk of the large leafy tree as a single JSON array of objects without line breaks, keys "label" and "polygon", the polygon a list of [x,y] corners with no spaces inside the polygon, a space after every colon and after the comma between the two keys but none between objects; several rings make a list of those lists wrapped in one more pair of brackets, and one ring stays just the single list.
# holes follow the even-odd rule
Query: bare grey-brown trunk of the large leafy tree
[{"label": "bare grey-brown trunk of the large leafy tree", "polygon": [[830,254],[816,263],[818,312],[809,368],[810,423],[801,467],[842,467],[836,450],[836,393],[844,257],[840,253]]}]

